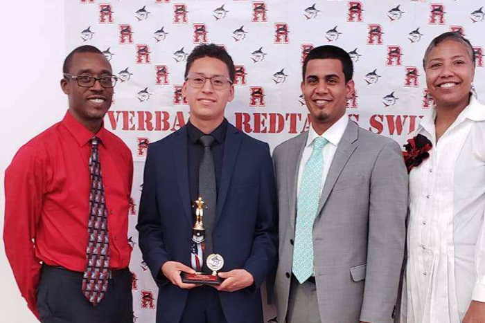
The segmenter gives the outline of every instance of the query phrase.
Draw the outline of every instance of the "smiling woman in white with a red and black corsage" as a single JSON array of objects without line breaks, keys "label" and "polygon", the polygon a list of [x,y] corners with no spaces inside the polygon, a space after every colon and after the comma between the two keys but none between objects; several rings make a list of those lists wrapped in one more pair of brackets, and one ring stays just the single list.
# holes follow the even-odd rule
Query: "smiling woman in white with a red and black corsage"
[{"label": "smiling woman in white with a red and black corsage", "polygon": [[435,107],[405,153],[401,322],[485,322],[485,106],[473,95],[475,53],[461,35],[444,33],[428,46],[423,66]]}]

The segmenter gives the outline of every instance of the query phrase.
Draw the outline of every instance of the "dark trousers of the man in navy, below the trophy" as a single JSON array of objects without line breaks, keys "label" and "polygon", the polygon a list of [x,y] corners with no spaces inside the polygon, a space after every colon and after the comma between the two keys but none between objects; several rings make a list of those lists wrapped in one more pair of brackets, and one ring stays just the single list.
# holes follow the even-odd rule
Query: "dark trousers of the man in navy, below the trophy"
[{"label": "dark trousers of the man in navy, below the trophy", "polygon": [[211,286],[189,290],[179,323],[227,323],[220,306],[218,290]]}]

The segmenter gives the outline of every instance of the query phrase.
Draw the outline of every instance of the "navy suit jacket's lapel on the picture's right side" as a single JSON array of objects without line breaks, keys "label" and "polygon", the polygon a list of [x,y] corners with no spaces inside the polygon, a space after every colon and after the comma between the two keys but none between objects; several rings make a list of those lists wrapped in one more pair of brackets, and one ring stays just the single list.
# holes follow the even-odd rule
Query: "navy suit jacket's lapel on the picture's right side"
[{"label": "navy suit jacket's lapel on the picture's right side", "polygon": [[224,157],[222,158],[222,170],[218,189],[217,212],[215,214],[214,226],[217,224],[222,207],[226,201],[227,191],[231,183],[231,177],[238,158],[241,133],[232,124],[227,124],[226,139],[224,140]]}]

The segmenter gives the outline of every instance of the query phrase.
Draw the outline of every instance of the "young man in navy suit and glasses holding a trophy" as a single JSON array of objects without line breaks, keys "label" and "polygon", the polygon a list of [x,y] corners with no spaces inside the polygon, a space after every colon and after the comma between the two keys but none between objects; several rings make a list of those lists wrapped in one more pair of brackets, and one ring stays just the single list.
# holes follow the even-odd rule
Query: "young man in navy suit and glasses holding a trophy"
[{"label": "young man in navy suit and glasses holding a trophy", "polygon": [[[274,172],[268,145],[224,118],[233,81],[224,48],[197,46],[182,89],[190,119],[148,147],[136,228],[159,286],[157,323],[263,322],[259,286],[277,258]],[[205,241],[196,243],[195,201],[202,190],[213,192],[215,205],[204,205]],[[208,273],[209,254],[224,259],[222,283],[182,282],[184,273]]]}]

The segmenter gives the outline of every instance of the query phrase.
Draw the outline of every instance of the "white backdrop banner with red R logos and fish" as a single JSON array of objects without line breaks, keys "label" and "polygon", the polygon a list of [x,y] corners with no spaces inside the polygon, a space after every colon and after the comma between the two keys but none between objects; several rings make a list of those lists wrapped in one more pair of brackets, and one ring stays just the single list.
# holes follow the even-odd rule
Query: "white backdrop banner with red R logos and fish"
[{"label": "white backdrop banner with red R logos and fish", "polygon": [[[105,127],[135,160],[129,239],[133,246],[136,322],[155,322],[157,286],[143,263],[134,229],[146,148],[182,127],[186,57],[202,43],[224,46],[236,64],[236,98],[229,122],[250,136],[280,142],[308,129],[301,63],[314,46],[332,44],[351,55],[356,95],[349,118],[400,144],[429,113],[422,59],[437,35],[455,30],[477,55],[475,89],[484,93],[485,1],[472,0],[78,0],[67,1],[68,51],[103,50],[120,78]],[[276,322],[266,307],[265,320]]]}]

